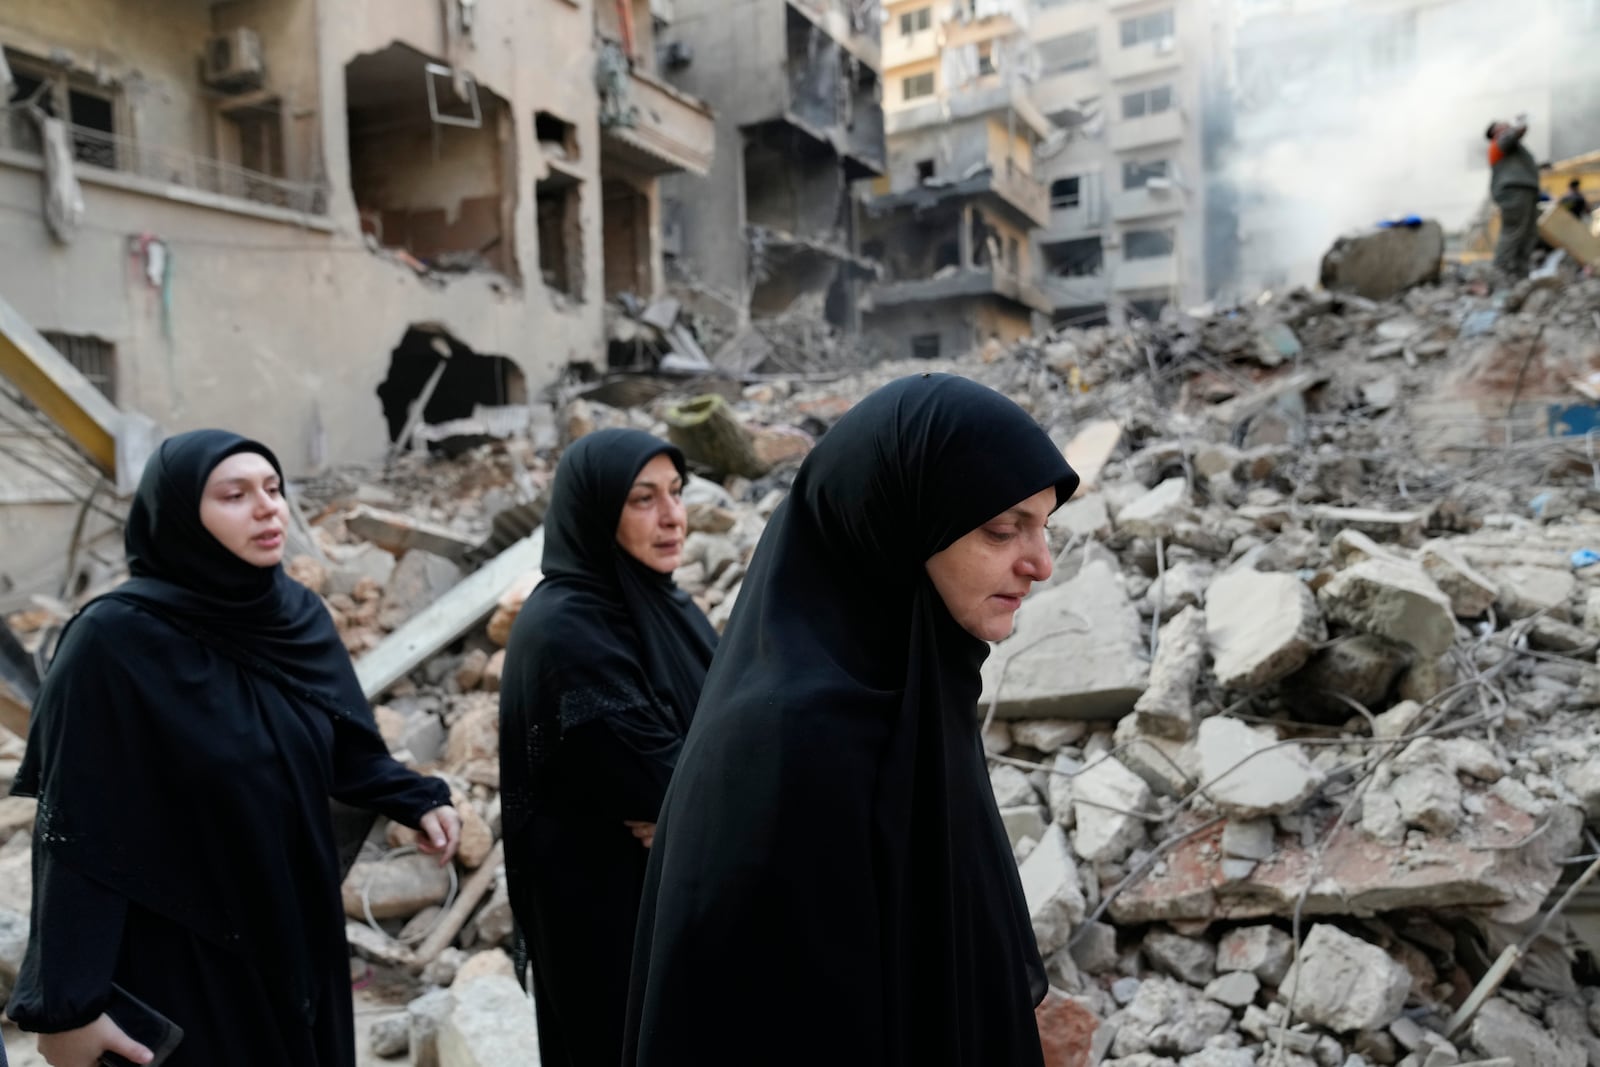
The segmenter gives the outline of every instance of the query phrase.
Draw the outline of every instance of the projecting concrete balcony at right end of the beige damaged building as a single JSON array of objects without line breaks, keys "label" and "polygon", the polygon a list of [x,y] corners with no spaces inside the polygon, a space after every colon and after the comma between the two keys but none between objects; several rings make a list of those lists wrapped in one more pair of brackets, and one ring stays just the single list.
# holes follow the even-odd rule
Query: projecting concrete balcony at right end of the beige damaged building
[{"label": "projecting concrete balcony at right end of the beige damaged building", "polygon": [[717,125],[710,107],[688,93],[632,70],[614,110],[603,107],[605,150],[648,174],[710,173]]}]

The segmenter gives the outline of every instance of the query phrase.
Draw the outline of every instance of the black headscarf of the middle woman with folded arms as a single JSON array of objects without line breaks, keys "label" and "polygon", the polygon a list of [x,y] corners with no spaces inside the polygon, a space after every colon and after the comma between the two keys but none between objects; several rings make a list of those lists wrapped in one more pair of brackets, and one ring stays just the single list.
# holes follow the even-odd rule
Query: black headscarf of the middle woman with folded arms
[{"label": "black headscarf of the middle woman with folded arms", "polygon": [[683,453],[642,430],[589,434],[557,467],[544,515],[544,579],[517,619],[501,683],[507,840],[549,800],[541,768],[562,728],[646,709],[630,742],[664,763],[688,733],[717,632],[670,574],[616,541],[634,480],[656,456],[688,477]]}]

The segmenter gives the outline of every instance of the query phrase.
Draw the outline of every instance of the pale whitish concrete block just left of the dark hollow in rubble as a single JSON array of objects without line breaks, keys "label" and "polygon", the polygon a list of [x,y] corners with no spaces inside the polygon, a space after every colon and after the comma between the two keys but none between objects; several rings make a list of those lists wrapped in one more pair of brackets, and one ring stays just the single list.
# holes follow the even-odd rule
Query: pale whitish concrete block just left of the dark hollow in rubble
[{"label": "pale whitish concrete block just left of the dark hollow in rubble", "polygon": [[1226,689],[1256,689],[1290,677],[1328,637],[1304,582],[1250,569],[1211,582],[1205,624],[1216,680]]}]

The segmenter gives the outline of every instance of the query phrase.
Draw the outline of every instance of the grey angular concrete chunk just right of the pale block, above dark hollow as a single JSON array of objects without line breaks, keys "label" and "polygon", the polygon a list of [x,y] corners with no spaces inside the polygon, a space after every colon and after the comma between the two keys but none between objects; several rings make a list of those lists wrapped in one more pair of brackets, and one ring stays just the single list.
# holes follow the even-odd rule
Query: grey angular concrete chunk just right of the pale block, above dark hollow
[{"label": "grey angular concrete chunk just right of the pale block, above dark hollow", "polygon": [[1456,640],[1450,598],[1421,566],[1366,560],[1339,571],[1318,592],[1330,619],[1406,645],[1424,656],[1442,656]]}]

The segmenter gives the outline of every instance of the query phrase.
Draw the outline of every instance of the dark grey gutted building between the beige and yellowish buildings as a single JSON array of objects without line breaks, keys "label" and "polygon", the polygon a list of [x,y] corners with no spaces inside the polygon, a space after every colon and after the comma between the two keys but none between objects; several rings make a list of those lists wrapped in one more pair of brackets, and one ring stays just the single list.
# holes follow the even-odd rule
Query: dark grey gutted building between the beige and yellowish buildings
[{"label": "dark grey gutted building between the beige and yellowish buildings", "polygon": [[706,179],[662,186],[667,269],[728,330],[810,315],[859,326],[875,264],[854,182],[885,170],[877,0],[674,0],[659,53],[715,109]]}]

